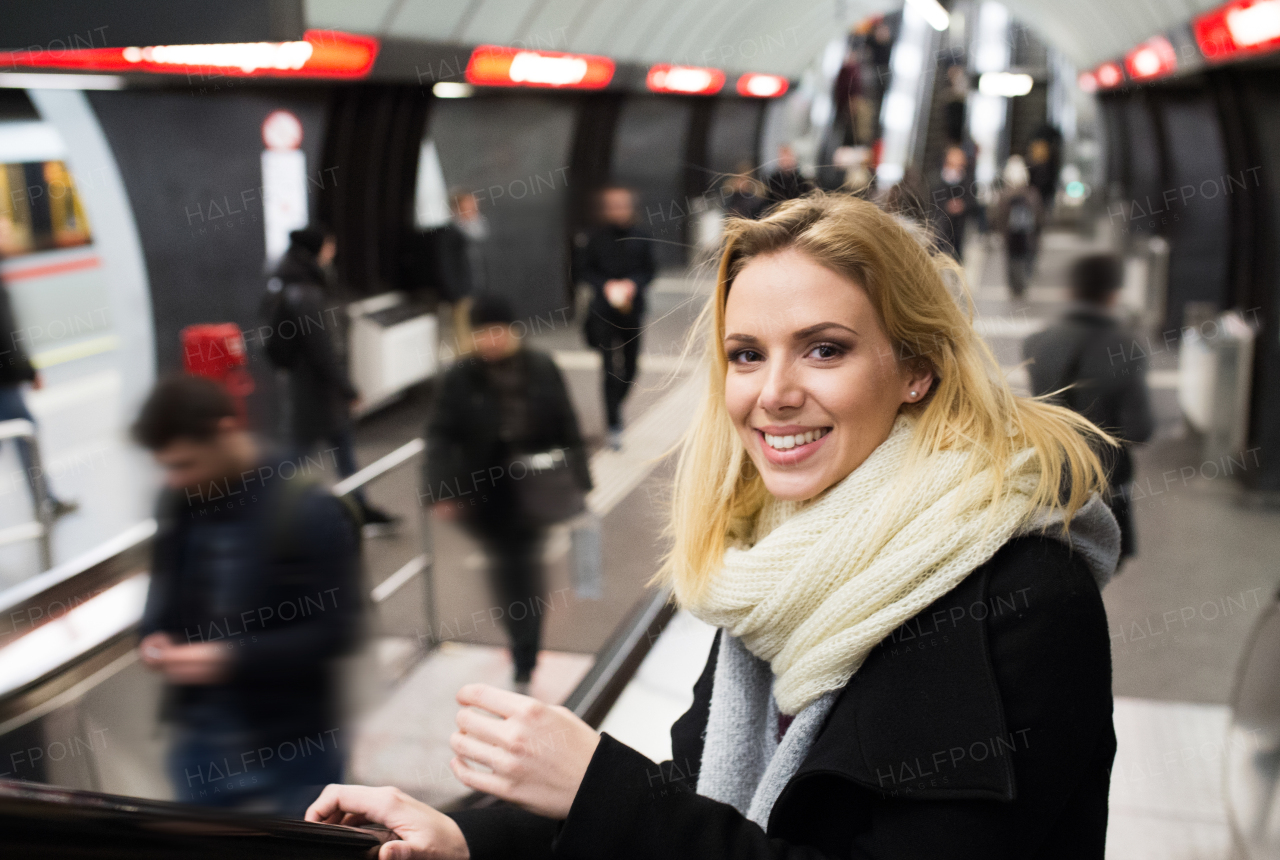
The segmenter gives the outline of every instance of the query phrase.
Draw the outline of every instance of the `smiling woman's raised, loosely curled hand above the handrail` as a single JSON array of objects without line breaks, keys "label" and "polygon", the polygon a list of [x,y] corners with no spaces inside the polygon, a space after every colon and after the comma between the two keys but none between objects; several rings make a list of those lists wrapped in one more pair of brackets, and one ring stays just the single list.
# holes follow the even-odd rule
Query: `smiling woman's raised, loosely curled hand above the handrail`
[{"label": "smiling woman's raised, loosely curled hand above the handrail", "polygon": [[[458,729],[449,738],[457,754],[449,767],[468,788],[563,819],[573,805],[600,736],[568,708],[468,683],[458,690]],[[488,710],[499,719],[471,708]],[[466,760],[493,770],[486,773]]]}]

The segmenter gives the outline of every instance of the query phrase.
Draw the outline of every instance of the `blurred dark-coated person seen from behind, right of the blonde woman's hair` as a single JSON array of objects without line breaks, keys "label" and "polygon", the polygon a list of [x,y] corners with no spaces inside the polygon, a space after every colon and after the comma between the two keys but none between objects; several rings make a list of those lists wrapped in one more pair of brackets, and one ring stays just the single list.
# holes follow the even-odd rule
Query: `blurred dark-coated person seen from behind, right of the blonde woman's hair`
[{"label": "blurred dark-coated person seen from behind, right of the blonde woman's hair", "polygon": [[1134,334],[1116,317],[1124,261],[1110,253],[1080,257],[1070,270],[1071,298],[1055,325],[1023,344],[1030,365],[1032,394],[1052,395],[1120,440],[1100,449],[1107,470],[1107,504],[1120,523],[1120,559],[1134,555],[1138,540],[1129,508],[1134,467],[1132,445],[1156,429],[1147,388],[1147,357]]}]

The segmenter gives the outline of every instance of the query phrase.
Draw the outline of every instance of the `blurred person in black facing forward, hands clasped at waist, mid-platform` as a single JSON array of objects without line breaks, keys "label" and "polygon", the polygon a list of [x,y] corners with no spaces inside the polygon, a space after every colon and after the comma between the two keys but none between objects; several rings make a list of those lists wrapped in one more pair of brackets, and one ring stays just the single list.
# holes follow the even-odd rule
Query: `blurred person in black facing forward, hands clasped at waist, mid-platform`
[{"label": "blurred person in black facing forward, hands clasped at waist, mid-platform", "polygon": [[640,357],[640,333],[655,265],[649,237],[636,227],[635,196],[614,186],[600,192],[600,220],[586,239],[579,271],[591,287],[584,334],[604,360],[608,444],[622,447],[622,402]]}]

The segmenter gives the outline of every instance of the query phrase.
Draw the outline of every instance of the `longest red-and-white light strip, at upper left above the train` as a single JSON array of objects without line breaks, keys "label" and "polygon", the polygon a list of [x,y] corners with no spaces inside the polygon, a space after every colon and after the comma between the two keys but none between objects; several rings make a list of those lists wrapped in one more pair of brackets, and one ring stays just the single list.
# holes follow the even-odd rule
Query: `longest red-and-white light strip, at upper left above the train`
[{"label": "longest red-and-white light strip, at upper left above the train", "polygon": [[378,40],[308,29],[301,42],[154,45],[0,54],[0,67],[76,72],[146,72],[205,77],[362,78],[374,68]]}]

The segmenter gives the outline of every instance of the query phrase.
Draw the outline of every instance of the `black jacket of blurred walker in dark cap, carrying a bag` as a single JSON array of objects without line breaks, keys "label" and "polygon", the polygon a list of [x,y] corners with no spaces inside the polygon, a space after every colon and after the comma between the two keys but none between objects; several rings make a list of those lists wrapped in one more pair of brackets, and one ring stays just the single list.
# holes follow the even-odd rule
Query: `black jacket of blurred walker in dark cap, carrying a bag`
[{"label": "black jacket of blurred walker in dark cap, carrying a bag", "polygon": [[512,443],[500,439],[502,406],[481,358],[463,358],[440,379],[426,422],[425,504],[456,500],[476,516],[507,517],[513,499],[509,458],[553,448],[566,450],[579,486],[591,489],[586,448],[559,367],[536,349],[521,348],[515,357],[525,365],[529,426],[525,438]]}]

